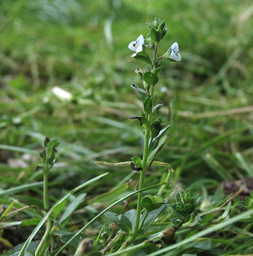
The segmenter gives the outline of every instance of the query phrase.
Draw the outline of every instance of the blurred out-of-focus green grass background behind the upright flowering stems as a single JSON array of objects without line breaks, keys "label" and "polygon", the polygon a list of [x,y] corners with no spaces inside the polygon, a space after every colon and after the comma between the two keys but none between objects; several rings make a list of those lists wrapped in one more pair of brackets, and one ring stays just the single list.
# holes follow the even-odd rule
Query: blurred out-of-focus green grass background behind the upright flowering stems
[{"label": "blurred out-of-focus green grass background behind the upright flowering stems", "polygon": [[[33,168],[48,136],[60,142],[54,197],[107,171],[88,195],[131,177],[124,189],[133,190],[130,168],[94,162],[142,156],[141,127],[129,119],[141,114],[140,98],[130,85],[141,86],[135,70],[147,67],[127,46],[156,16],[168,28],[158,56],[175,41],[182,56],[162,62],[156,85],[155,101],[165,102],[158,116],[173,135],[156,159],[184,188],[253,176],[252,1],[1,0],[1,189],[42,179]],[[146,184],[166,173],[153,167]]]}]

